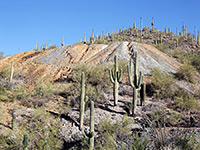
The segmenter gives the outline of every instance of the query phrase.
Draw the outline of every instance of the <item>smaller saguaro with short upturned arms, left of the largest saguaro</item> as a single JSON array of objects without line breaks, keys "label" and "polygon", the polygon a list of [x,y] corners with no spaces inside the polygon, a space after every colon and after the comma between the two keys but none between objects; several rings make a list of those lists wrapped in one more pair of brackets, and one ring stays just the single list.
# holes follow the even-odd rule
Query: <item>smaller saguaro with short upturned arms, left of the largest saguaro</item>
[{"label": "smaller saguaro with short upturned arms, left of the largest saguaro", "polygon": [[113,97],[114,97],[114,105],[117,105],[118,102],[118,87],[119,82],[122,80],[122,69],[120,69],[120,73],[118,70],[118,58],[117,55],[115,56],[115,70],[109,70],[110,74],[110,81],[113,83]]}]

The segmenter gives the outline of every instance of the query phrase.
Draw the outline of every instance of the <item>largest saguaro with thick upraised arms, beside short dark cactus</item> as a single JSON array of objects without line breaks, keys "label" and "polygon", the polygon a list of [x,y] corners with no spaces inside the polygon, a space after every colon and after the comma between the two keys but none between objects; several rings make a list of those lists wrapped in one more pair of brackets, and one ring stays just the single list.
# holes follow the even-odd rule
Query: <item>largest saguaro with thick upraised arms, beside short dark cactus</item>
[{"label": "largest saguaro with thick upraised arms, beside short dark cactus", "polygon": [[[141,88],[141,83],[143,81],[143,75],[142,72],[140,72],[140,77],[138,80],[138,60],[137,60],[137,52],[135,52],[135,64],[134,64],[134,82],[133,82],[133,59],[130,59],[130,64],[127,66],[128,68],[128,77],[129,77],[129,83],[131,87],[133,88],[133,102],[132,102],[132,115],[135,114],[136,111],[136,105],[137,105],[137,91]],[[145,97],[143,97],[145,98]]]}]

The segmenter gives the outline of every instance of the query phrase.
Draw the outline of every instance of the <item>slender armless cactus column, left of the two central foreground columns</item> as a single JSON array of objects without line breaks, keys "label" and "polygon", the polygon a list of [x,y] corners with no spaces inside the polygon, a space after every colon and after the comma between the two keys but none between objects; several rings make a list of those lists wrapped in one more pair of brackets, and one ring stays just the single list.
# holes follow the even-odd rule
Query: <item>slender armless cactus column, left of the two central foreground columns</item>
[{"label": "slender armless cactus column, left of the two central foreground columns", "polygon": [[83,127],[83,118],[84,118],[84,110],[85,110],[85,73],[82,72],[81,74],[81,96],[80,96],[80,126],[79,128],[82,129]]}]

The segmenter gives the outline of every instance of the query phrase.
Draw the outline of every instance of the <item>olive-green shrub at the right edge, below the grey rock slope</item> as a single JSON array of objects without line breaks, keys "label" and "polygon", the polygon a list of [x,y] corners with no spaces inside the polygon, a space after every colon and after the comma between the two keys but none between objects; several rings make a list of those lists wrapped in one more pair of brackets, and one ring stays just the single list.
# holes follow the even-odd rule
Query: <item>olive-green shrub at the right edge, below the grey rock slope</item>
[{"label": "olive-green shrub at the right edge, below the grey rock slope", "polygon": [[181,97],[175,97],[174,103],[178,106],[182,111],[189,111],[191,109],[200,109],[198,101],[192,95],[186,95]]}]

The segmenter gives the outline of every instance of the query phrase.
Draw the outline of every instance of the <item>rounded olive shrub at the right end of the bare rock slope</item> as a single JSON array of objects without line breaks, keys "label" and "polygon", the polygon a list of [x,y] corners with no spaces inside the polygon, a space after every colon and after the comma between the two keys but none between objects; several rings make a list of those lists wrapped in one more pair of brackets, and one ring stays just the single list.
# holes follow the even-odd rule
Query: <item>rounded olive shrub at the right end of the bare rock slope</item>
[{"label": "rounded olive shrub at the right end of the bare rock slope", "polygon": [[184,64],[179,67],[178,72],[176,73],[176,76],[178,77],[179,80],[193,82],[195,73],[196,73],[196,70],[193,66],[189,64]]}]

